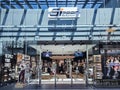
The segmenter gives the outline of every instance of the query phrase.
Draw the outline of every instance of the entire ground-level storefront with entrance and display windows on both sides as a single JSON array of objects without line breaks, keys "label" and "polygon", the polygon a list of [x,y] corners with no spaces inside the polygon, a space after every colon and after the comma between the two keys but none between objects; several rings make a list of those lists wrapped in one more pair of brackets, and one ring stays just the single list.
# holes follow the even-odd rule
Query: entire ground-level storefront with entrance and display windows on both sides
[{"label": "entire ground-level storefront with entrance and display windows on both sides", "polygon": [[[119,87],[120,85],[119,42],[107,45],[105,43],[86,44],[83,45],[86,47],[84,52],[73,51],[72,54],[55,54],[45,50],[45,48],[48,49],[47,47],[56,48],[59,45],[44,46],[27,42],[27,46],[23,44],[24,47],[17,50],[7,45],[2,49],[1,85],[17,82],[28,85],[54,84],[55,86],[84,84],[95,87]],[[70,47],[70,45],[64,47],[68,46]],[[75,46],[77,46],[76,49],[82,47],[82,45],[79,47],[71,45],[71,49]],[[68,51],[64,49],[62,53],[65,52]]]}]

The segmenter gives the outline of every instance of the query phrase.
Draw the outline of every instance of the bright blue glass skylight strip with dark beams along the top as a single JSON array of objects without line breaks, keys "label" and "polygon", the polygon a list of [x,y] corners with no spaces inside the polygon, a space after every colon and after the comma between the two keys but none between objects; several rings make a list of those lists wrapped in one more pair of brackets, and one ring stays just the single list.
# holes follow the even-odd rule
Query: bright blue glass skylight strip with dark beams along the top
[{"label": "bright blue glass skylight strip with dark beams along the top", "polygon": [[49,7],[100,8],[110,0],[0,0],[6,9],[47,9]]}]

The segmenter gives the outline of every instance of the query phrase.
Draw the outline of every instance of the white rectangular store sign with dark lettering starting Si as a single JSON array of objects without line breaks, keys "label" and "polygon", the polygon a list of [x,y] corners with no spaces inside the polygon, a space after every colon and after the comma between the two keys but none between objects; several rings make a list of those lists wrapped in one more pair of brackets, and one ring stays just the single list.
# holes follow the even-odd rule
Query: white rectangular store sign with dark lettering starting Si
[{"label": "white rectangular store sign with dark lettering starting Si", "polygon": [[49,18],[77,18],[80,12],[77,7],[50,7],[48,8]]}]

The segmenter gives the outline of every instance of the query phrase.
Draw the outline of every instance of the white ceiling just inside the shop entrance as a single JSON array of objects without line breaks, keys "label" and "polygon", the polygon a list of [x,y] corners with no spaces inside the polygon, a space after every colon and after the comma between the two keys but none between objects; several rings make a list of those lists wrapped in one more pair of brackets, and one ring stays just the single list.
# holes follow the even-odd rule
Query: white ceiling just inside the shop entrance
[{"label": "white ceiling just inside the shop entrance", "polygon": [[[51,51],[52,54],[73,54],[75,51],[86,51],[86,45],[30,45],[34,49],[43,51]],[[87,45],[88,50],[91,49],[95,44]]]}]

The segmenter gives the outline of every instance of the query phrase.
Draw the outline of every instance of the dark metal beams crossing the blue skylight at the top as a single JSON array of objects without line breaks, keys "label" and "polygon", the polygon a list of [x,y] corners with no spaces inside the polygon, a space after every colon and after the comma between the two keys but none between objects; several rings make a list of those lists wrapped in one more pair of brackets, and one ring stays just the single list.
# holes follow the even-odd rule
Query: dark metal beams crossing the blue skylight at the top
[{"label": "dark metal beams crossing the blue skylight at the top", "polygon": [[[106,3],[108,3],[109,1],[110,0],[106,0]],[[3,2],[4,2],[4,4],[3,4]],[[12,2],[12,3],[10,4],[10,2]],[[15,4],[13,4],[13,2],[15,2]],[[34,4],[30,4],[32,2],[36,2],[36,4],[35,3]],[[43,2],[44,2],[44,4],[43,4]],[[51,2],[51,4],[49,4],[49,2]],[[53,4],[52,4],[52,2],[53,2]],[[54,2],[56,2],[56,3],[54,3]],[[65,2],[65,4],[62,4],[62,3],[59,3],[59,2]],[[49,8],[50,5],[55,5],[55,4],[56,4],[56,7],[58,7],[59,5],[63,5],[63,6],[67,7],[69,2],[75,2],[75,4],[72,4],[74,7],[76,7],[78,5],[78,2],[82,2],[82,3],[84,3],[82,8],[85,8],[85,6],[87,4],[89,4],[90,1],[89,0],[86,0],[86,1],[79,1],[79,0],[75,0],[75,1],[68,1],[68,0],[65,0],[65,1],[58,1],[58,0],[56,0],[56,1],[48,1],[48,0],[45,0],[45,1],[40,1],[40,0],[35,0],[35,1],[33,1],[33,0],[24,0],[24,1],[14,0],[14,1],[8,1],[8,0],[2,0],[1,1],[1,8],[16,9],[17,7],[15,7],[14,5],[18,5],[20,8],[25,9],[24,5],[27,5],[28,8],[34,9],[32,7],[32,5],[38,5],[38,8],[42,9],[41,5],[47,5],[47,8]],[[102,5],[103,5],[103,2],[101,2],[99,0],[95,0],[95,1],[92,1],[92,2],[93,2],[93,5],[92,5],[91,8],[94,8],[94,6],[96,4],[101,4],[100,7],[102,7]],[[4,5],[10,6],[10,8],[5,7]]]}]

